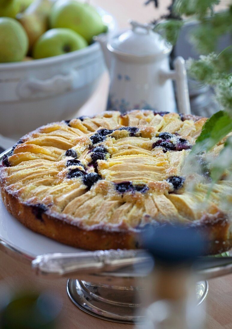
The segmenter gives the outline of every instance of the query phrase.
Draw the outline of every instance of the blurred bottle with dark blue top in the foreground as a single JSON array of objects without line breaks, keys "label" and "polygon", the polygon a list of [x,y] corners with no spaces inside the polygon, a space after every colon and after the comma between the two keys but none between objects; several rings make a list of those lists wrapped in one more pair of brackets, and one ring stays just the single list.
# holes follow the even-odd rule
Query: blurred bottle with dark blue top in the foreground
[{"label": "blurred bottle with dark blue top in the foreground", "polygon": [[155,266],[141,293],[140,315],[144,323],[136,329],[203,329],[204,309],[197,306],[196,280],[191,267],[202,255],[201,236],[183,226],[149,228],[143,245]]}]

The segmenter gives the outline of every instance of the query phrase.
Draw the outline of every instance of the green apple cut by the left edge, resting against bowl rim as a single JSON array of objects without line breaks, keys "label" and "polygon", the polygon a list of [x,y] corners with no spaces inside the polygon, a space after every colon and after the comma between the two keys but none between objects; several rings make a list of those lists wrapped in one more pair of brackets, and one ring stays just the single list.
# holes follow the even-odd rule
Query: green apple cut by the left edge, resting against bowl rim
[{"label": "green apple cut by the left edge, resting against bowl rim", "polygon": [[13,18],[0,17],[0,63],[22,61],[28,51],[28,37]]}]

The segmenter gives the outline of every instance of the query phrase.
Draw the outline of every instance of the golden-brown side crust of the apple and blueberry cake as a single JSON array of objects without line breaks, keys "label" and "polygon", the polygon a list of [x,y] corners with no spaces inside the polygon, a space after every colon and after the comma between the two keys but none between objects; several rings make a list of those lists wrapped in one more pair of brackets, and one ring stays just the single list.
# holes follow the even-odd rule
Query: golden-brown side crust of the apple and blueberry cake
[{"label": "golden-brown side crust of the apple and blueberry cake", "polygon": [[[33,214],[30,205],[1,189],[1,195],[7,210],[23,225],[32,231],[58,242],[86,250],[138,249],[141,248],[140,232],[120,230],[109,231],[104,228],[89,229],[79,227],[58,214],[42,214],[41,219]],[[167,223],[168,224],[168,223]],[[206,238],[205,255],[215,255],[232,248],[231,225],[223,214],[204,216],[189,224]]]}]

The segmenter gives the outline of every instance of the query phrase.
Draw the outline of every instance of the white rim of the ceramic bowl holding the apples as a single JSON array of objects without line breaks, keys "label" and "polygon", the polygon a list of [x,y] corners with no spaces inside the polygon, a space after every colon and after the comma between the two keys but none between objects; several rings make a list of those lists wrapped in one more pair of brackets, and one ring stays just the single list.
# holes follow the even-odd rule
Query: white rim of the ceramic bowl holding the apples
[{"label": "white rim of the ceramic bowl holding the apples", "polygon": [[[104,10],[103,8],[101,8],[99,6],[97,6],[95,8],[101,16],[103,16],[103,15],[111,16],[112,22],[113,22],[113,28],[112,28],[112,23],[108,24],[109,32],[112,32],[112,30],[117,29],[117,22],[116,22],[115,17],[112,14],[108,13],[106,10]],[[34,68],[37,66],[42,66],[43,64],[44,65],[57,64],[57,63],[64,62],[67,60],[76,59],[76,58],[85,56],[87,54],[91,54],[98,49],[100,49],[100,45],[98,44],[98,42],[93,41],[93,43],[91,43],[87,47],[85,47],[83,49],[72,51],[67,54],[46,57],[46,58],[41,58],[41,59],[33,59],[31,61],[0,63],[0,71]]]}]

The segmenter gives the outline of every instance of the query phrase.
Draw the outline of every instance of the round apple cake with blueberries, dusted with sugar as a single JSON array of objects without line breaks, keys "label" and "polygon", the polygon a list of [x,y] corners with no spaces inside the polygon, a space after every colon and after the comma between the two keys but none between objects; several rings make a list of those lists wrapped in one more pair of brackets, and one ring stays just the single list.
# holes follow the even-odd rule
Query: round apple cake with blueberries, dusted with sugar
[{"label": "round apple cake with blueberries, dusted with sugar", "polygon": [[134,110],[42,126],[3,157],[3,202],[31,230],[83,249],[140,248],[144,228],[181,223],[204,234],[206,253],[228,250],[232,228],[222,199],[231,202],[231,182],[222,179],[207,198],[203,155],[201,174],[182,171],[205,121]]}]

